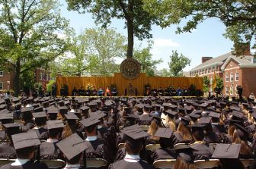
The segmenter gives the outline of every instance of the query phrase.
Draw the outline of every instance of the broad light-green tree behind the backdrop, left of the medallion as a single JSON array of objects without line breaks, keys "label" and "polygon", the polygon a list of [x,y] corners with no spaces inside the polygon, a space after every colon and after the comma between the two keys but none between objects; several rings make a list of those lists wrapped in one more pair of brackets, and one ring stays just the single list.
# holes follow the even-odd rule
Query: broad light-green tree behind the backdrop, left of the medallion
[{"label": "broad light-green tree behind the backdrop, left of the medallion", "polygon": [[88,29],[78,36],[72,34],[69,50],[56,60],[59,70],[53,70],[68,76],[109,76],[119,70],[115,59],[124,57],[125,42],[125,37],[114,29]]}]

